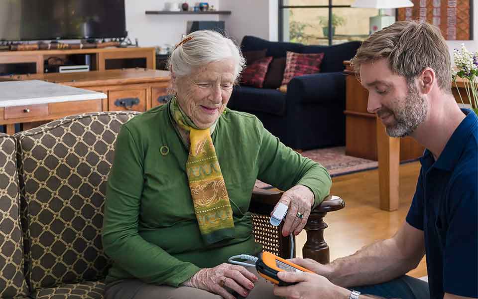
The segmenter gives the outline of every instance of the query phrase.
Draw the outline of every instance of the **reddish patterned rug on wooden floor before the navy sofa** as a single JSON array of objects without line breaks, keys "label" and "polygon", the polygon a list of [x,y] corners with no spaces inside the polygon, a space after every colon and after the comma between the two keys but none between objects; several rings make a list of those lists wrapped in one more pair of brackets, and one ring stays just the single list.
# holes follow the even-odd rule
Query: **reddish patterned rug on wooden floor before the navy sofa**
[{"label": "reddish patterned rug on wooden floor before the navy sofa", "polygon": [[[378,167],[377,161],[346,155],[345,147],[304,150],[301,154],[322,164],[332,177]],[[264,189],[271,188],[269,184],[259,180],[256,181],[255,186]]]}]

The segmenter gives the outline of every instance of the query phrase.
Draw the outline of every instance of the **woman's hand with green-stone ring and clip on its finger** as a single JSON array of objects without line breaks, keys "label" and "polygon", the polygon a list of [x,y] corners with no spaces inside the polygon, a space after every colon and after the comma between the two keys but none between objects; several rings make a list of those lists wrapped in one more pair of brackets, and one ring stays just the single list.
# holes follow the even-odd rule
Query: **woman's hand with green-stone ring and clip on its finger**
[{"label": "woman's hand with green-stone ring and clip on its finger", "polygon": [[[306,186],[296,185],[285,191],[279,202],[289,207],[282,227],[282,235],[285,237],[293,233],[297,236],[307,224],[310,210],[314,205],[314,193]],[[277,205],[274,210],[276,207]],[[272,216],[272,213],[270,215]]]}]

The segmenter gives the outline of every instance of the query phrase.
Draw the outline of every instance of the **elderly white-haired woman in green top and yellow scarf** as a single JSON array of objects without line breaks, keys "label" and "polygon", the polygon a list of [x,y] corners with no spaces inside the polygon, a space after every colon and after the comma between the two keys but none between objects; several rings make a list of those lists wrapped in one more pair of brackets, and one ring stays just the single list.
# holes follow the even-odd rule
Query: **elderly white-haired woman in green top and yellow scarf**
[{"label": "elderly white-haired woman in green top and yellow scarf", "polygon": [[254,182],[287,190],[285,236],[303,229],[330,176],[253,115],[226,108],[244,66],[232,40],[193,32],[169,65],[174,97],[126,123],[116,143],[103,226],[114,262],[106,298],[271,298],[255,269],[226,263],[261,251],[247,212]]}]

